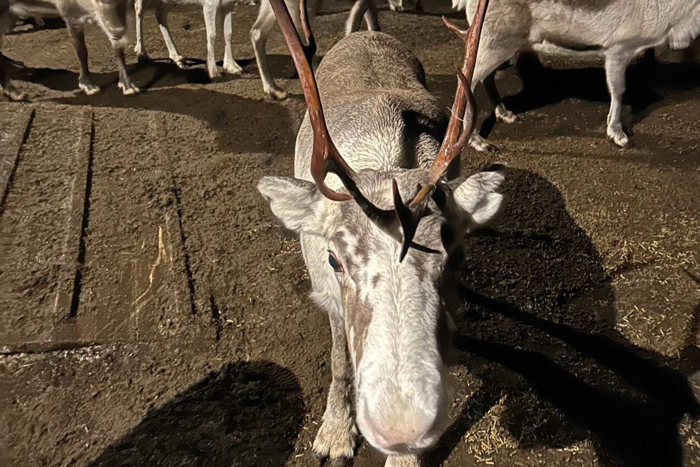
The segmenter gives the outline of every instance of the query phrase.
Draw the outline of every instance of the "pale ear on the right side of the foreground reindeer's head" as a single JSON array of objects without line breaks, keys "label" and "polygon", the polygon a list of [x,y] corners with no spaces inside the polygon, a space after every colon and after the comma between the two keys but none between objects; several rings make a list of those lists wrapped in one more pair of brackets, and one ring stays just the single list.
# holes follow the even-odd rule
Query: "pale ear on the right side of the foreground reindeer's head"
[{"label": "pale ear on the right side of the foreground reindeer's head", "polygon": [[449,184],[454,190],[454,202],[458,207],[469,214],[472,223],[483,225],[500,208],[503,195],[496,193],[496,190],[503,179],[500,172],[479,172],[466,180],[458,179]]}]

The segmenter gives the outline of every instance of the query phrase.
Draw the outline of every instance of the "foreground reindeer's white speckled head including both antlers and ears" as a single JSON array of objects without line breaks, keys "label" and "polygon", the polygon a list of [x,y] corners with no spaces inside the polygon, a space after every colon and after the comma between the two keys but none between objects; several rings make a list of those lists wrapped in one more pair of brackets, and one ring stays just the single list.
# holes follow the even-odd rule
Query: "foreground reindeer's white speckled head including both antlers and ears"
[{"label": "foreground reindeer's white speckled head including both antlers and ears", "polygon": [[[433,445],[447,427],[444,354],[449,349],[449,309],[456,299],[454,269],[461,263],[464,235],[496,211],[503,180],[498,172],[444,181],[473,129],[470,92],[486,0],[472,27],[447,24],[467,43],[452,115],[430,169],[354,172],[338,153],[323,118],[316,81],[282,0],[270,2],[302,81],[314,131],[314,182],[263,177],[258,190],[287,228],[309,235],[328,251],[309,258],[325,267],[314,284],[319,305],[343,317],[355,369],[356,420],[365,438],[387,454]],[[304,20],[309,43],[313,37]],[[462,132],[467,113],[468,125]],[[325,184],[339,177],[344,190]],[[409,200],[403,202],[403,200]]]}]

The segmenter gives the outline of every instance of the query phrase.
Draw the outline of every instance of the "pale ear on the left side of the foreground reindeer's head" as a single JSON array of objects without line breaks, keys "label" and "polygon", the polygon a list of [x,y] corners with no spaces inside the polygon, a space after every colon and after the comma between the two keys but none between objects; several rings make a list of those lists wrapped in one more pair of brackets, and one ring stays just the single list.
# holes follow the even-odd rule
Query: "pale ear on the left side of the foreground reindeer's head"
[{"label": "pale ear on the left side of the foreground reindeer's head", "polygon": [[295,232],[327,236],[336,210],[335,202],[318,192],[316,183],[283,176],[264,176],[258,191],[286,228]]}]

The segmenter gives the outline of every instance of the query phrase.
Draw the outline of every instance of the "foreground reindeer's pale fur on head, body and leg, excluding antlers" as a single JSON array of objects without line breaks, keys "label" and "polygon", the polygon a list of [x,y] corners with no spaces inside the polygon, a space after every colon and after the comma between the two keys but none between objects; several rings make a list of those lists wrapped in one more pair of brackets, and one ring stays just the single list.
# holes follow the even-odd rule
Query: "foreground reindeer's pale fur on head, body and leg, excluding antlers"
[{"label": "foreground reindeer's pale fur on head, body and leg, excluding antlers", "polygon": [[[416,194],[439,146],[427,132],[410,134],[405,115],[419,112],[428,127],[444,127],[446,120],[440,103],[420,81],[419,67],[395,39],[360,33],[340,41],[318,68],[329,132],[358,172],[358,189],[381,209],[393,207],[392,180],[404,200]],[[393,77],[387,69],[401,75]],[[342,89],[332,88],[343,80]],[[371,84],[377,82],[384,84]],[[356,421],[367,441],[389,454],[387,466],[414,467],[414,455],[400,454],[433,445],[447,425],[437,331],[449,312],[440,284],[457,246],[442,243],[441,228],[447,222],[465,232],[469,223],[464,218],[484,223],[496,214],[501,198],[495,190],[503,176],[486,172],[451,182],[445,193],[454,193],[449,204],[459,212],[442,212],[430,200],[414,237],[435,252],[411,248],[399,262],[400,243],[372,223],[356,202],[332,202],[319,195],[309,171],[311,137],[307,115],[297,135],[296,178],[264,177],[258,188],[269,198],[274,215],[300,232],[311,297],[330,316],[333,380],[314,451],[330,452],[328,433],[336,431],[338,445],[352,444],[351,431],[337,427],[353,426],[342,394],[354,389]],[[327,176],[326,183],[342,189],[335,175]],[[329,265],[328,251],[339,260],[339,272]],[[344,391],[339,389],[342,381]]]}]

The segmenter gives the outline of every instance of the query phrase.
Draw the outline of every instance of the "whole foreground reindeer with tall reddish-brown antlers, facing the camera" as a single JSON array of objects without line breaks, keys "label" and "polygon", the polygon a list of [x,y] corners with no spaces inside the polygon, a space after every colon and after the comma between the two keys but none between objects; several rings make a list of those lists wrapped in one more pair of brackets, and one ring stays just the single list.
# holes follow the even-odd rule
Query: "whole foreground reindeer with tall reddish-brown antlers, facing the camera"
[{"label": "whole foreground reindeer with tall reddish-brown antlers, facing the camera", "polygon": [[344,465],[359,428],[388,454],[386,466],[417,466],[416,454],[447,426],[444,358],[463,236],[502,200],[498,172],[446,179],[474,125],[469,80],[486,0],[468,30],[444,20],[466,44],[449,120],[426,90],[420,62],[393,37],[346,36],[314,78],[283,0],[270,3],[308,113],[295,178],[265,176],[258,190],[300,233],[311,298],[330,319],[332,382],[314,453]]}]

